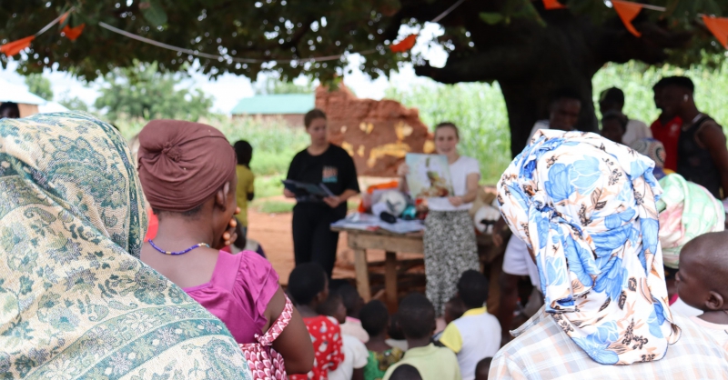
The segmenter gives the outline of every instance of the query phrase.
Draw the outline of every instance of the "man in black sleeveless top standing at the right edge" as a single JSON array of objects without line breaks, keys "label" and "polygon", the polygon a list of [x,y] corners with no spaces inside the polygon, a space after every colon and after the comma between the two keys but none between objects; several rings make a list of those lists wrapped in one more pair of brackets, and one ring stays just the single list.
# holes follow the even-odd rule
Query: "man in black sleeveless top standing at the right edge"
[{"label": "man in black sleeveless top standing at the right edge", "polygon": [[693,90],[693,81],[685,76],[664,80],[662,110],[667,115],[680,116],[683,123],[678,140],[677,173],[723,199],[728,191],[728,149],[723,127],[698,111]]}]

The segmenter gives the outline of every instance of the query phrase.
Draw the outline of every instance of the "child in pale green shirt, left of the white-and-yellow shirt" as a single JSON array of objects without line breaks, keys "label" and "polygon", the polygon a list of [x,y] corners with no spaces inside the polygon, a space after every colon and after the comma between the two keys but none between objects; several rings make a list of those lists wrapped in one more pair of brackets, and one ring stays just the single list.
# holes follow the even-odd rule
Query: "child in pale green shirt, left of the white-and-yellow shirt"
[{"label": "child in pale green shirt, left of the white-and-yellow shirt", "polygon": [[458,358],[450,349],[431,343],[435,331],[435,307],[426,296],[417,293],[399,303],[399,325],[410,349],[404,358],[391,365],[384,375],[389,380],[399,365],[412,365],[423,380],[460,380]]}]

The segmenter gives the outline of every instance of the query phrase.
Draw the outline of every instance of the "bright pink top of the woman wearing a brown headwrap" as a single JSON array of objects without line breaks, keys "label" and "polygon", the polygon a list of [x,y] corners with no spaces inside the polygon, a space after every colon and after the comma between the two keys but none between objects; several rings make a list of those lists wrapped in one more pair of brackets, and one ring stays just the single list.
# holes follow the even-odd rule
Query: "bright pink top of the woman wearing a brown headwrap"
[{"label": "bright pink top of the woman wearing a brown headwrap", "polygon": [[278,291],[278,274],[255,252],[220,251],[210,281],[184,290],[220,318],[238,344],[256,343],[268,322],[268,303]]}]

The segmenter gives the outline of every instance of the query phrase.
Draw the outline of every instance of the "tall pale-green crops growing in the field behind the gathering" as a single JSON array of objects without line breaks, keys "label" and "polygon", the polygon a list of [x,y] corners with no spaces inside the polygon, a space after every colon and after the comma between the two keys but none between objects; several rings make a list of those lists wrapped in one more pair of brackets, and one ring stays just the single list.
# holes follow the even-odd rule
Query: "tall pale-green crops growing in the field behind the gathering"
[{"label": "tall pale-green crops growing in the field behind the gathering", "polygon": [[[651,124],[659,111],[652,101],[652,85],[665,75],[687,75],[695,83],[698,107],[728,126],[728,63],[712,71],[702,66],[681,69],[670,65],[606,65],[593,78],[593,100],[602,90],[617,86],[624,90],[624,112]],[[389,88],[386,97],[408,107],[417,107],[425,125],[451,121],[460,127],[460,152],[480,162],[484,184],[495,184],[511,162],[508,115],[498,84],[416,85],[408,91]],[[259,197],[280,195],[279,179],[286,175],[293,155],[308,145],[308,135],[282,121],[262,123],[256,119],[229,119],[209,115],[201,120],[220,129],[231,143],[245,139],[254,147],[253,172],[258,175]],[[146,122],[123,118],[117,121],[122,133],[131,138]],[[726,129],[728,132],[728,129]]]}]

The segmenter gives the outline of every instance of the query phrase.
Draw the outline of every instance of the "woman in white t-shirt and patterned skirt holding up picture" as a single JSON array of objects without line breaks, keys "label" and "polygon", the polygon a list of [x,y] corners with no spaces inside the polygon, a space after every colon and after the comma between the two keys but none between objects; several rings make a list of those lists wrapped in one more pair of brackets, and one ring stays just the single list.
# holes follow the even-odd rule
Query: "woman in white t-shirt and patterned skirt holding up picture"
[{"label": "woman in white t-shirt and patterned skirt holding up picture", "polygon": [[[427,199],[429,209],[425,219],[424,251],[426,295],[435,305],[437,315],[444,313],[445,303],[457,293],[460,275],[474,269],[480,271],[475,228],[468,214],[478,195],[480,165],[474,158],[460,155],[458,127],[440,123],[435,127],[435,150],[445,155],[450,166],[454,194]],[[400,189],[408,191],[406,176],[410,167],[399,166]]]}]

